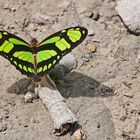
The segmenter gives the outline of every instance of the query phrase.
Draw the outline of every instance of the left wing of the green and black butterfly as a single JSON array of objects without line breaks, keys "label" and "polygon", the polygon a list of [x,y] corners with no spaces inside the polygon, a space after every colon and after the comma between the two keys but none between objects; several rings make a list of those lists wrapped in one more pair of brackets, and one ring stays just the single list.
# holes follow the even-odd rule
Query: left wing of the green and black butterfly
[{"label": "left wing of the green and black butterfly", "polygon": [[27,76],[34,75],[34,59],[30,45],[21,38],[0,31],[0,55]]}]

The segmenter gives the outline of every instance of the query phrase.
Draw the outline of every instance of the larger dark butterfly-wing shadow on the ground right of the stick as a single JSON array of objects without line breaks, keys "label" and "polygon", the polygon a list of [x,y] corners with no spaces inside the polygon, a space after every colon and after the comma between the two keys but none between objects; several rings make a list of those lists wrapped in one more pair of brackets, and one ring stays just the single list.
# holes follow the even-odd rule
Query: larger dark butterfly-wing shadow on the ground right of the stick
[{"label": "larger dark butterfly-wing shadow on the ground right of the stick", "polygon": [[114,96],[115,88],[101,84],[92,77],[72,72],[56,82],[60,93],[65,97],[109,97]]}]

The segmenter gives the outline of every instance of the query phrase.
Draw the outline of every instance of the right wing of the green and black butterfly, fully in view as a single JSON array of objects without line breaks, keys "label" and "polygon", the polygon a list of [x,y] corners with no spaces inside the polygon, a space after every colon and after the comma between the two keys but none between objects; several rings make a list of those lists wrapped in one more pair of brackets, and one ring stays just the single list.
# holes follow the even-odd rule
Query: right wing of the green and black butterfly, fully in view
[{"label": "right wing of the green and black butterfly, fully in view", "polygon": [[88,30],[84,27],[72,27],[44,39],[38,47],[37,74],[43,74],[53,69],[64,55],[86,38],[87,34]]}]

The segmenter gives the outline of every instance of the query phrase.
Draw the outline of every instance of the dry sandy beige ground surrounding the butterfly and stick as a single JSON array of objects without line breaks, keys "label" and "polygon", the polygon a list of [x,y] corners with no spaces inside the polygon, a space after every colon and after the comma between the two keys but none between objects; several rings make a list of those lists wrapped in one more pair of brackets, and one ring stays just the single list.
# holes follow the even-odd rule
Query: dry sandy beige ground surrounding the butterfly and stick
[{"label": "dry sandy beige ground surrounding the butterfly and stick", "polygon": [[[28,34],[41,41],[66,27],[88,28],[72,52],[76,69],[57,82],[88,140],[140,140],[140,37],[127,31],[115,7],[115,0],[0,1],[0,28],[27,41]],[[86,49],[89,42],[95,53]],[[26,76],[0,57],[0,140],[70,140],[53,134],[39,99],[23,102],[26,84]]]}]

